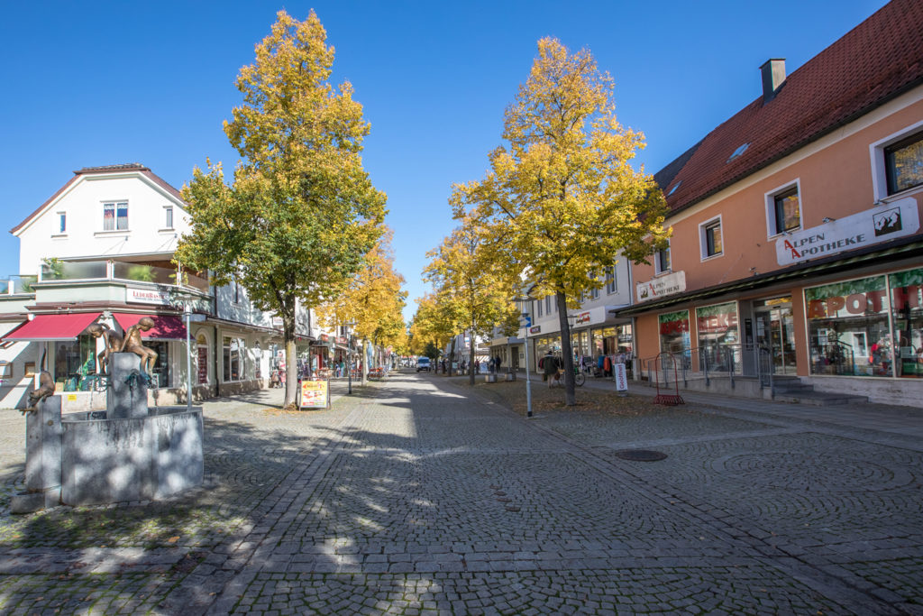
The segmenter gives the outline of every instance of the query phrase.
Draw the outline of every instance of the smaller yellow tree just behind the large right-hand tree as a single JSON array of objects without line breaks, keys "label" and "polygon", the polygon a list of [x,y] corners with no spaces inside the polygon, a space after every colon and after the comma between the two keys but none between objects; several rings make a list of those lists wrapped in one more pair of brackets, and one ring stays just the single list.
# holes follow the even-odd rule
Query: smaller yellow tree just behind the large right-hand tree
[{"label": "smaller yellow tree just behind the large right-hand tree", "polygon": [[[509,321],[509,315],[515,318],[509,270],[491,266],[493,258],[485,250],[484,237],[468,218],[462,218],[462,226],[426,256],[431,261],[424,269],[424,279],[433,284],[439,305],[452,324],[471,332],[469,365],[473,365],[477,337]],[[474,384],[473,370],[469,382]]]}]

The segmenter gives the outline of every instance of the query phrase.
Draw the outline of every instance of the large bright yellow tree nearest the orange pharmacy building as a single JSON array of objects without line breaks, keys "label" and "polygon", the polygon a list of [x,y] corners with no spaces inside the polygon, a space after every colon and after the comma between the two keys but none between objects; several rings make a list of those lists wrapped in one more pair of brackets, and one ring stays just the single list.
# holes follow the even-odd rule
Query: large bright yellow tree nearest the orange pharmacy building
[{"label": "large bright yellow tree nearest the orange pharmacy building", "polygon": [[457,217],[491,236],[497,267],[524,273],[533,296],[554,295],[566,401],[576,402],[568,308],[600,288],[617,256],[643,261],[665,246],[665,203],[653,177],[631,167],[641,133],[622,127],[612,79],[587,51],[538,42],[532,72],[505,114],[508,146],[481,181],[455,187]]}]

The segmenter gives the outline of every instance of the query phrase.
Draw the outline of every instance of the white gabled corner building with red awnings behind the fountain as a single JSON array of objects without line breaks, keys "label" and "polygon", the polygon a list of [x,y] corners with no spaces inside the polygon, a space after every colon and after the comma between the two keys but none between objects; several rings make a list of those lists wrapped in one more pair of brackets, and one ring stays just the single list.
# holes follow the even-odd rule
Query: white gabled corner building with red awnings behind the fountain
[{"label": "white gabled corner building with red awnings behind the fountain", "polygon": [[[13,228],[19,275],[0,286],[0,406],[26,405],[44,356],[67,410],[104,407],[95,378],[102,339],[87,327],[124,333],[142,317],[156,323],[142,334],[158,354],[150,404],[185,403],[185,305],[204,317],[190,332],[193,397],[265,387],[280,357],[281,324],[254,308],[240,285],[216,288],[208,272],[171,262],[188,229],[179,191],[137,163],[74,172]],[[320,332],[308,310],[296,320],[307,357]]]}]

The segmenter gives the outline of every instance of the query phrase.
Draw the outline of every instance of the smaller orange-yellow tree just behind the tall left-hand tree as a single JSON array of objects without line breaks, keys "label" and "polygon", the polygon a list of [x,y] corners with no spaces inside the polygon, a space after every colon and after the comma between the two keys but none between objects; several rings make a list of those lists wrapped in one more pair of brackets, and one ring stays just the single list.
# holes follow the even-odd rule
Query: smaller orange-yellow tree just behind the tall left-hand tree
[{"label": "smaller orange-yellow tree just behind the tall left-hand tree", "polygon": [[403,276],[394,270],[393,233],[387,229],[366,257],[366,264],[346,284],[342,294],[318,308],[318,319],[329,326],[354,323],[355,334],[364,341],[366,358],[362,380],[368,374],[368,345],[402,344],[406,338],[402,310],[407,292]]}]

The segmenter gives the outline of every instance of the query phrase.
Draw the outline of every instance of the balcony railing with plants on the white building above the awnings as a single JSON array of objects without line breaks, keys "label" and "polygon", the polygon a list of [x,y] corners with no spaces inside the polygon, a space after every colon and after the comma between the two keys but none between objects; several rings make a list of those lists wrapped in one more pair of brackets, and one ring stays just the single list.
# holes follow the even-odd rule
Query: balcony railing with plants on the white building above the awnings
[{"label": "balcony railing with plants on the white building above the awnings", "polygon": [[[121,280],[138,283],[170,284],[186,286],[208,294],[209,281],[189,272],[182,272],[176,280],[174,268],[162,268],[145,263],[128,263],[126,261],[54,261],[42,264],[40,282],[55,280],[92,281]],[[35,282],[34,279],[32,282]],[[28,293],[28,291],[27,291]]]}]

